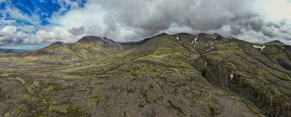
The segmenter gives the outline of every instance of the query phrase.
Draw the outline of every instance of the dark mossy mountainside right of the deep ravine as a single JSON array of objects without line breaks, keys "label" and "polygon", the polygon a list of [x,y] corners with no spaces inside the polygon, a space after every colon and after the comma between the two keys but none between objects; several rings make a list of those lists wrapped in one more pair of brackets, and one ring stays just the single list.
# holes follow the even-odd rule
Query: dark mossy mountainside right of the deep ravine
[{"label": "dark mossy mountainside right of the deep ravine", "polygon": [[[253,101],[266,115],[290,116],[291,71],[276,64],[279,61],[277,57],[287,58],[282,56],[283,52],[279,52],[282,50],[274,49],[278,44],[267,44],[259,52],[252,47],[252,43],[226,39],[211,45],[214,48],[208,52],[205,50],[210,47],[202,49],[201,53],[205,52],[206,55],[195,60],[194,67],[212,84]],[[230,78],[231,74],[233,78]]]}]

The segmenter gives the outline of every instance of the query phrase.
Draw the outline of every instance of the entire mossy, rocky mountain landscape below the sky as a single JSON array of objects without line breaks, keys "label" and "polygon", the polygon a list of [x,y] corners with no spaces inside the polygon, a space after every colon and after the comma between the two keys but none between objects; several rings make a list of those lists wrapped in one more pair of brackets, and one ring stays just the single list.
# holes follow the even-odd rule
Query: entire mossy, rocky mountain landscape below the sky
[{"label": "entire mossy, rocky mountain landscape below the sky", "polygon": [[291,117],[291,46],[85,36],[0,56],[0,117]]}]

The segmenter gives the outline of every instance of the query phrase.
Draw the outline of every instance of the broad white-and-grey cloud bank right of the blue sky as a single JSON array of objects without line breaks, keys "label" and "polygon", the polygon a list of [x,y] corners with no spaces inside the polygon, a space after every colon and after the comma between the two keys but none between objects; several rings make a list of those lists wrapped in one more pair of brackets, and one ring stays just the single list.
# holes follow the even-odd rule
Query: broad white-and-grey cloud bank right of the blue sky
[{"label": "broad white-and-grey cloud bank right of the blue sky", "polygon": [[97,35],[124,42],[181,32],[220,33],[257,42],[291,37],[290,19],[270,20],[266,17],[272,15],[264,14],[259,5],[254,0],[87,0],[80,8],[50,17],[48,21],[59,23],[59,28],[35,26],[39,31],[26,39],[77,41],[84,35]]}]

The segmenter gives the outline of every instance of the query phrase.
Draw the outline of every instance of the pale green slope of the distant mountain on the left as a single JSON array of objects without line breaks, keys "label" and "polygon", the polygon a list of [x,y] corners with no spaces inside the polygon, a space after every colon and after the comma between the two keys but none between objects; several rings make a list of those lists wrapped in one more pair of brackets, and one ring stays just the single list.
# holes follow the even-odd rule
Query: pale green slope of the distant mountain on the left
[{"label": "pale green slope of the distant mountain on the left", "polygon": [[31,61],[62,63],[65,61],[90,60],[122,51],[121,47],[112,41],[94,40],[94,38],[91,40],[83,40],[65,46],[49,46],[39,50],[24,52],[19,56]]}]

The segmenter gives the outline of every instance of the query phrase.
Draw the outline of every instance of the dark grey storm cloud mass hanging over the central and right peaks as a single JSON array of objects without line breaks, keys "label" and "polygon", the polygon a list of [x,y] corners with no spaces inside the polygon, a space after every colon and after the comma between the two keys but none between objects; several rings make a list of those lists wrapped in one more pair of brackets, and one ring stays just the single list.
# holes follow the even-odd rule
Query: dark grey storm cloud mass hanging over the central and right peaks
[{"label": "dark grey storm cloud mass hanging over the central and right peaks", "polygon": [[99,3],[112,13],[104,17],[104,23],[110,27],[106,34],[109,31],[114,32],[118,23],[132,28],[135,34],[128,35],[129,39],[150,37],[170,30],[174,24],[178,27],[189,27],[192,31],[188,32],[219,32],[224,26],[229,26],[228,32],[233,35],[255,31],[262,32],[270,38],[280,36],[273,31],[280,30],[286,21],[266,21],[265,17],[250,10],[251,7],[245,4],[248,1],[251,2],[251,0],[102,0]]}]

